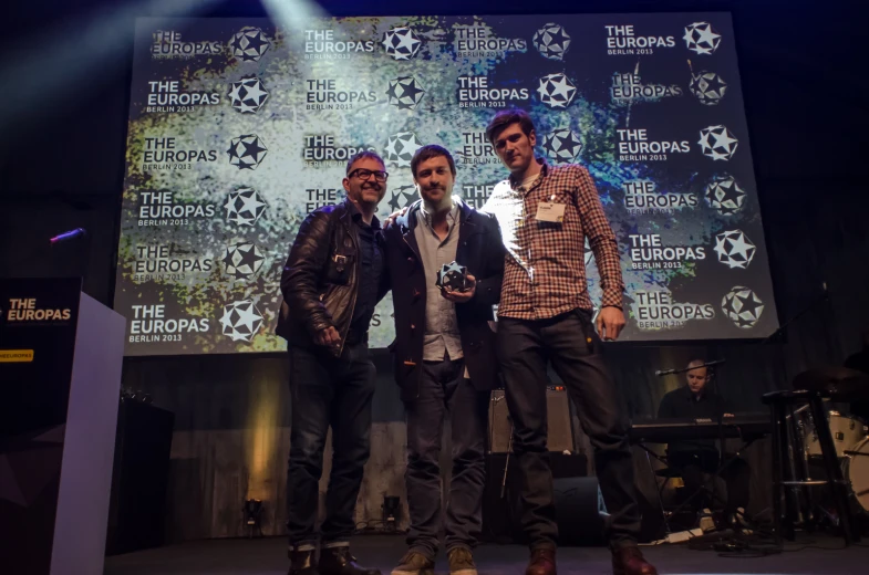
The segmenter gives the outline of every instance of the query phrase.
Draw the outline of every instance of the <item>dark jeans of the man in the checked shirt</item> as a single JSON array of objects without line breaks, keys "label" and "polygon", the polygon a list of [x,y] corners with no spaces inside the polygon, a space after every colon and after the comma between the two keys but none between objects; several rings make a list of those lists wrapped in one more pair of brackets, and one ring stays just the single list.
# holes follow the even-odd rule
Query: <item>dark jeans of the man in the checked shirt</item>
[{"label": "dark jeans of the man in the checked shirt", "polygon": [[613,548],[634,545],[640,511],[633,483],[628,421],[615,383],[600,355],[591,314],[580,310],[549,320],[498,320],[498,359],[514,424],[514,453],[521,469],[523,529],[531,548],[558,541],[552,472],[546,447],[547,360],[577,407],[594,448],[600,490],[611,515]]}]

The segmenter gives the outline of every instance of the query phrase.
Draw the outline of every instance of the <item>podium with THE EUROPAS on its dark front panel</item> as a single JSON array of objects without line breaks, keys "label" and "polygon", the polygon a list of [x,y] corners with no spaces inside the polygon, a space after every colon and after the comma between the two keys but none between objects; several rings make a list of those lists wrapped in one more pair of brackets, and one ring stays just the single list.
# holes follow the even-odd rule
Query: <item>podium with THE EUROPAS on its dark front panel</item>
[{"label": "podium with THE EUROPAS on its dark front panel", "polygon": [[125,320],[81,279],[0,279],[0,565],[102,575]]}]

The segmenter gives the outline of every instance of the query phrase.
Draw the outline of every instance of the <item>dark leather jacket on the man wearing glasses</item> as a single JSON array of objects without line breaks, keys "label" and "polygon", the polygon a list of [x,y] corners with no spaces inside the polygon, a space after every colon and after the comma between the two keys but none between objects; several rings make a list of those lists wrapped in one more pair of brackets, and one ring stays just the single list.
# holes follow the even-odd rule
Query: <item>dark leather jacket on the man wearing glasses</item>
[{"label": "dark leather jacket on the man wearing glasses", "polygon": [[350,200],[311,212],[299,228],[280,280],[283,295],[275,332],[290,344],[311,346],[320,330],[334,326],[341,356],[359,288],[359,234]]}]

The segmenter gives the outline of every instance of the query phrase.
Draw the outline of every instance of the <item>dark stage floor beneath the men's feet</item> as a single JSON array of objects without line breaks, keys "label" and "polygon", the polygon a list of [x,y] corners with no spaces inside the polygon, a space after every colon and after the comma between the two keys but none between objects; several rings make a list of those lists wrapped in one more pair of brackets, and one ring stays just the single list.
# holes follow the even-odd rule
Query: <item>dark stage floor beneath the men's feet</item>
[{"label": "dark stage floor beneath the men's feet", "polygon": [[[863,542],[863,545],[869,543]],[[807,547],[817,545],[825,548]],[[797,551],[799,550],[799,551]],[[360,562],[389,575],[404,553],[397,535],[359,536],[353,552]],[[643,552],[663,574],[830,574],[866,573],[869,546],[841,548],[841,540],[804,537],[788,543],[786,552],[766,557],[720,557],[714,551],[693,551],[684,545],[644,546]],[[106,557],[105,575],[283,575],[288,562],[283,539],[211,540],[169,545]],[[519,545],[483,545],[475,553],[480,575],[521,575],[528,551]],[[562,547],[558,552],[561,575],[611,573],[603,547]],[[447,574],[443,552],[436,573]]]}]

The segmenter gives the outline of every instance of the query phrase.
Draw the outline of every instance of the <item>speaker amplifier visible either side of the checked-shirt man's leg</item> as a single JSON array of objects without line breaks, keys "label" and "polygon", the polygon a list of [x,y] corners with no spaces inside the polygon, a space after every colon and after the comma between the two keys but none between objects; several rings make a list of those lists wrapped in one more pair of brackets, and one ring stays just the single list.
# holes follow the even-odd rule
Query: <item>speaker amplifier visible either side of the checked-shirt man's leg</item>
[{"label": "speaker amplifier visible either side of the checked-shirt man's leg", "polygon": [[[570,398],[563,388],[546,391],[547,448],[549,451],[575,452],[573,428],[570,425]],[[489,452],[506,453],[510,445],[510,420],[504,389],[492,393],[489,401]]]}]

